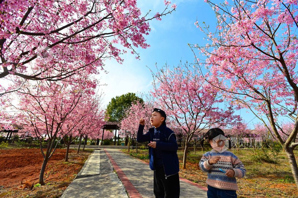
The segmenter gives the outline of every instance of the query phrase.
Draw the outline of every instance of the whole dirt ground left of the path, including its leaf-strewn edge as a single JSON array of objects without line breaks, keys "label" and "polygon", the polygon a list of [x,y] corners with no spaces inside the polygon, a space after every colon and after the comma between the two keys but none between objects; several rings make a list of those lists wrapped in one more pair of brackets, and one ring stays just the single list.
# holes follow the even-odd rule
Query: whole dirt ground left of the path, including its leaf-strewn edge
[{"label": "whole dirt ground left of the path, including its leaf-strewn edge", "polygon": [[[81,170],[92,151],[70,150],[69,162],[65,162],[66,149],[57,149],[45,170],[45,186],[39,186],[38,178],[43,162],[40,149],[0,150],[0,197],[59,197]],[[28,183],[30,189],[19,189]]]}]

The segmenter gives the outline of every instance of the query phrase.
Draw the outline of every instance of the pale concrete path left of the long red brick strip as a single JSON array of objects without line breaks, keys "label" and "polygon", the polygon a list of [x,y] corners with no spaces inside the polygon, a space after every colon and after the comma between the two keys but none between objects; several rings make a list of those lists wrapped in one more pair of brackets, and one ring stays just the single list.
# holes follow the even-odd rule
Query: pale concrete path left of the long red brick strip
[{"label": "pale concrete path left of the long red brick strip", "polygon": [[61,197],[127,198],[128,196],[118,175],[113,172],[112,164],[104,150],[94,150]]}]

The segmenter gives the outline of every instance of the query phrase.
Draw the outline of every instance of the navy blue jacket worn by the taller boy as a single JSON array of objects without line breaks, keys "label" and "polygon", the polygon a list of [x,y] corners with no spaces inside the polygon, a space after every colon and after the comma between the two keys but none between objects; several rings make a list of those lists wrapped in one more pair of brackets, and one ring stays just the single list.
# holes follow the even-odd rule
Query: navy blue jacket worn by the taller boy
[{"label": "navy blue jacket worn by the taller boy", "polygon": [[175,133],[165,125],[161,125],[157,129],[161,133],[159,142],[153,140],[154,128],[149,128],[149,131],[146,134],[143,134],[144,125],[139,125],[137,142],[148,142],[148,144],[150,141],[156,142],[156,148],[149,147],[149,167],[151,170],[156,170],[154,167],[153,149],[160,149],[164,171],[166,173],[166,177],[169,177],[179,172],[177,139]]}]

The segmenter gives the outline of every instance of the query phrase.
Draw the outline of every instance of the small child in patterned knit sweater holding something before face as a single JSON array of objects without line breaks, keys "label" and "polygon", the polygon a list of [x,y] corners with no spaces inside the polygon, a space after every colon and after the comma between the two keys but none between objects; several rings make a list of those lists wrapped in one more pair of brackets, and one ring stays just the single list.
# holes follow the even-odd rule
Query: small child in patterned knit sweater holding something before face
[{"label": "small child in patterned knit sweater holding something before face", "polygon": [[212,139],[219,135],[225,135],[220,128],[211,128],[207,132],[208,142],[213,149],[203,154],[199,163],[201,170],[207,172],[208,175],[206,180],[208,185],[207,197],[236,198],[236,191],[239,188],[235,177],[244,177],[246,169],[233,153],[227,150],[221,153],[214,150],[214,148],[220,146],[217,145],[220,143],[218,143],[219,141],[213,143]]}]

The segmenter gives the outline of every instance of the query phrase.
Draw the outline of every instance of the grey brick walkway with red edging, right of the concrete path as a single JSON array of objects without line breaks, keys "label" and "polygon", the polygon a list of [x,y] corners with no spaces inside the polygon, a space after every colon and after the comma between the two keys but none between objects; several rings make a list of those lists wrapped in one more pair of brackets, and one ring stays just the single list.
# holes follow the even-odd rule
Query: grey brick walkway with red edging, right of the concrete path
[{"label": "grey brick walkway with red edging, right of the concrete path", "polygon": [[[153,171],[145,162],[139,161],[118,149],[105,149],[114,169],[124,184],[129,197],[152,198]],[[180,197],[207,197],[207,188],[180,178]]]}]

